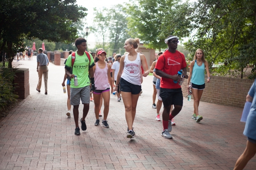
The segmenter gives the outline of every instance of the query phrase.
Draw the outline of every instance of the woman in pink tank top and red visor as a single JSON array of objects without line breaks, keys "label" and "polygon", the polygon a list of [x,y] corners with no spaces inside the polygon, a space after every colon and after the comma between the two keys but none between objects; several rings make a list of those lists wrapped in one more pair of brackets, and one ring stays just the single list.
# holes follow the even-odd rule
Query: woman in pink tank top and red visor
[{"label": "woman in pink tank top and red visor", "polygon": [[97,56],[94,58],[95,65],[93,66],[95,90],[93,92],[94,105],[95,105],[95,116],[96,122],[95,126],[99,126],[99,111],[100,111],[100,97],[102,95],[104,99],[104,111],[102,125],[104,127],[109,127],[107,123],[107,115],[109,110],[109,100],[110,100],[110,87],[111,93],[113,92],[113,84],[110,75],[110,65],[105,62],[107,53],[104,50],[98,52]]}]

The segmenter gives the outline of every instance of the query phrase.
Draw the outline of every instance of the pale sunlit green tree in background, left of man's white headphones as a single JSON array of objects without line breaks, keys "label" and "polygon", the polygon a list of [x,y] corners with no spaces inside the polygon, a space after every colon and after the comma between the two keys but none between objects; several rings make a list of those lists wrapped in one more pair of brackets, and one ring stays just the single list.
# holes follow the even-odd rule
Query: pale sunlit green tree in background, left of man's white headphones
[{"label": "pale sunlit green tree in background, left of man's white headphones", "polygon": [[[162,22],[175,10],[175,5],[179,2],[179,0],[133,0],[127,10],[129,34],[149,43],[150,48],[159,51],[161,48],[166,48],[164,43],[166,37],[160,36],[162,27],[166,27]],[[173,32],[168,32],[168,35]]]}]

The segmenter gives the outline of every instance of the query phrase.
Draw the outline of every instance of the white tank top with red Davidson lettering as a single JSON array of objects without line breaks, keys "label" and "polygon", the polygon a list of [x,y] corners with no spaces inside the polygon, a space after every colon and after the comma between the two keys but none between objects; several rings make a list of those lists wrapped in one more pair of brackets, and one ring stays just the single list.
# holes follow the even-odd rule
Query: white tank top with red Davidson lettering
[{"label": "white tank top with red Davidson lettering", "polygon": [[126,54],[124,58],[124,68],[121,78],[134,85],[141,85],[140,67],[141,61],[139,53],[137,53],[137,58],[134,61],[128,60],[128,54]]}]

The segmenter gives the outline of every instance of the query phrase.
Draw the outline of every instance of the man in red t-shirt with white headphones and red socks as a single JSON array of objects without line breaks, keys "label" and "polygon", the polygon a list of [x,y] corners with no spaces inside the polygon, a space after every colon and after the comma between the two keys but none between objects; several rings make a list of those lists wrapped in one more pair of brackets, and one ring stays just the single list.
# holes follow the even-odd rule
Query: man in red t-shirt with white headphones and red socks
[{"label": "man in red t-shirt with white headphones and red socks", "polygon": [[[187,75],[187,63],[184,54],[177,51],[178,37],[170,35],[165,39],[165,43],[168,45],[166,50],[157,60],[155,71],[161,78],[160,82],[160,97],[163,100],[163,127],[161,135],[164,138],[171,139],[172,135],[169,133],[172,130],[171,120],[178,115],[183,105],[183,95],[181,86],[174,81],[184,80],[188,78]],[[178,76],[178,71],[182,70],[182,77]],[[170,113],[171,106],[174,108]]]}]

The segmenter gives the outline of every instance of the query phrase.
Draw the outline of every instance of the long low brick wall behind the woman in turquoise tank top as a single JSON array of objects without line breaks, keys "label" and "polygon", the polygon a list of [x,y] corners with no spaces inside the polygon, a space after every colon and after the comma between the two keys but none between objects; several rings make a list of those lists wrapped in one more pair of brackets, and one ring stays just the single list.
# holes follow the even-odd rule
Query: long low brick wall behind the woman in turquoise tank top
[{"label": "long low brick wall behind the woman in turquoise tank top", "polygon": [[[206,81],[207,75],[205,75],[205,82]],[[188,79],[185,79],[184,84],[186,87],[187,82]],[[211,82],[206,83],[206,87],[200,101],[244,108],[246,96],[253,82],[254,80],[249,79],[211,76]],[[186,96],[186,87],[184,85],[181,87],[183,96]],[[184,98],[184,100],[187,100],[187,98]]]}]

